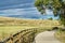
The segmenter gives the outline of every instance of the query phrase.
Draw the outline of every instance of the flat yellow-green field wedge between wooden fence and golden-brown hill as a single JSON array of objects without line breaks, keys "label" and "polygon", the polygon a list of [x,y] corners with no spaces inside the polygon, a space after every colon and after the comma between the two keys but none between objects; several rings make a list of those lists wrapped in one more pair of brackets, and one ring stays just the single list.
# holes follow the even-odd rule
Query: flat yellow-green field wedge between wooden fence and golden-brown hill
[{"label": "flat yellow-green field wedge between wooden fence and golden-brown hill", "polygon": [[36,28],[36,27],[22,27],[22,26],[3,26],[0,27],[0,40],[10,37],[10,34],[14,34],[24,29]]}]

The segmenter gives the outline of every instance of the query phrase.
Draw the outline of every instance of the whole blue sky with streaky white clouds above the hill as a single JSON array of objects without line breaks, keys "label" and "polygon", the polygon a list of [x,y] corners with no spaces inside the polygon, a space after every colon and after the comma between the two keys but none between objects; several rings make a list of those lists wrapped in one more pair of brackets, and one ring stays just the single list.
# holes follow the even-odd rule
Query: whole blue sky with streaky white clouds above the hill
[{"label": "whole blue sky with streaky white clouds above the hill", "polygon": [[0,0],[0,16],[20,18],[49,18],[53,16],[52,11],[47,10],[48,15],[41,15],[34,6],[35,0]]}]

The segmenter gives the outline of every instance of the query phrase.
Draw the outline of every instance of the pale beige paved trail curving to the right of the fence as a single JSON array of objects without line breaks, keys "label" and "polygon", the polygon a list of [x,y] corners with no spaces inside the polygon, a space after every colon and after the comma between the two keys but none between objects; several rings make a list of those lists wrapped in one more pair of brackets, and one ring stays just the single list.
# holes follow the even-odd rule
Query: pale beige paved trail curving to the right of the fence
[{"label": "pale beige paved trail curving to the right of the fence", "polygon": [[61,43],[54,38],[54,31],[44,31],[35,38],[36,43]]}]

